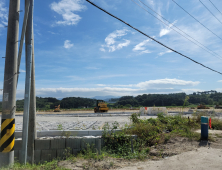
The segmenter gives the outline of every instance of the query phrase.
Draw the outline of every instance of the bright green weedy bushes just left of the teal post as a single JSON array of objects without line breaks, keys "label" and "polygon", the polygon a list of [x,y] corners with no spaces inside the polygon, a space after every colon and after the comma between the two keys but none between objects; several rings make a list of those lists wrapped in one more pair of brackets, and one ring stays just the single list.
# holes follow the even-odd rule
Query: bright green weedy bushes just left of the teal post
[{"label": "bright green weedy bushes just left of the teal post", "polygon": [[182,115],[166,116],[158,114],[157,119],[139,119],[138,114],[132,114],[132,128],[125,129],[125,133],[135,134],[145,145],[153,146],[170,139],[171,136],[198,139],[199,134],[194,130],[200,128],[199,120],[185,118]]}]

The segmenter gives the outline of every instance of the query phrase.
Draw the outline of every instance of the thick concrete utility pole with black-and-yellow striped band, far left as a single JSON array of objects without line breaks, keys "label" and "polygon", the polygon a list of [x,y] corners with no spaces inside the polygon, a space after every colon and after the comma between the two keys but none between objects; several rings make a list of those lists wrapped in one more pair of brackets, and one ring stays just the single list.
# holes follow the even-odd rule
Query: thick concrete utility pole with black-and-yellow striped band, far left
[{"label": "thick concrete utility pole with black-and-yellow striped band, far left", "polygon": [[10,0],[0,139],[0,167],[14,163],[20,0]]}]

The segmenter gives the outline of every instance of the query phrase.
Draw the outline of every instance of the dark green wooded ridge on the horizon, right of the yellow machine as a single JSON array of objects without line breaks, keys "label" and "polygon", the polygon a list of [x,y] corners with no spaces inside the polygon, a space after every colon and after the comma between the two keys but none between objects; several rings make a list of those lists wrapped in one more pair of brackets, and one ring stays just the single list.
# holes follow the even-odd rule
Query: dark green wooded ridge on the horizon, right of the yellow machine
[{"label": "dark green wooded ridge on the horizon, right of the yellow machine", "polygon": [[[188,100],[185,100],[187,96]],[[173,94],[143,94],[136,97],[123,96],[114,104],[116,107],[123,106],[189,106],[189,105],[222,105],[222,93],[186,95],[186,93]]]}]

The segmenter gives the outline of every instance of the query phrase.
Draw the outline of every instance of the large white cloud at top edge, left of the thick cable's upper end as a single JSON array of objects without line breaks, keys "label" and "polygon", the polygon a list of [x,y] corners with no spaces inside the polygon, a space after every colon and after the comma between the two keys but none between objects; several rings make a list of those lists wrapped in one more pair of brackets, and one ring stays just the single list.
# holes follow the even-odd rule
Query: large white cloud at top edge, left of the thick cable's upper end
[{"label": "large white cloud at top edge, left of the thick cable's upper end", "polygon": [[57,21],[59,25],[76,25],[81,17],[76,14],[86,9],[85,5],[82,5],[82,0],[61,0],[56,3],[53,2],[50,7],[53,11],[62,15],[63,20]]}]

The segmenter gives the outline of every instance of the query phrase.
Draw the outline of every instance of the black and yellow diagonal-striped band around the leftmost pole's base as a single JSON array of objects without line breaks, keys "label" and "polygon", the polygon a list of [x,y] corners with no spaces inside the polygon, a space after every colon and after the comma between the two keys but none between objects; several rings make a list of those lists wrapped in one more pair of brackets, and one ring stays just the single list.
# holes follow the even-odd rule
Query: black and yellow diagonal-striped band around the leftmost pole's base
[{"label": "black and yellow diagonal-striped band around the leftmost pole's base", "polygon": [[15,119],[2,119],[0,152],[11,152],[15,144]]}]

